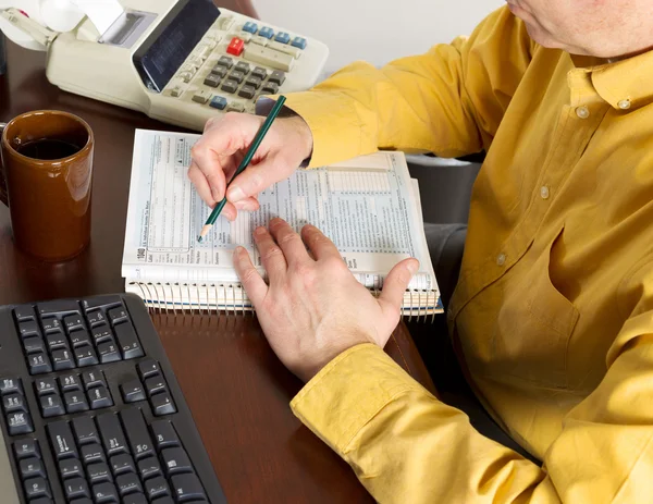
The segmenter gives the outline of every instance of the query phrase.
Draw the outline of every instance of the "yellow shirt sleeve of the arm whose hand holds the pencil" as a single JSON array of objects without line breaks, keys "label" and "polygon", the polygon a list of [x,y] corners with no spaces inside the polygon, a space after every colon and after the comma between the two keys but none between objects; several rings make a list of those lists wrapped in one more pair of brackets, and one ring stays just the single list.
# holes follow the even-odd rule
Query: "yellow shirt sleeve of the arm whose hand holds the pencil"
[{"label": "yellow shirt sleeve of the arm whose hand holds the pencil", "polygon": [[356,62],[286,106],[313,135],[310,165],[377,149],[444,157],[488,148],[531,60],[534,42],[507,8],[469,39],[438,45],[382,69]]}]

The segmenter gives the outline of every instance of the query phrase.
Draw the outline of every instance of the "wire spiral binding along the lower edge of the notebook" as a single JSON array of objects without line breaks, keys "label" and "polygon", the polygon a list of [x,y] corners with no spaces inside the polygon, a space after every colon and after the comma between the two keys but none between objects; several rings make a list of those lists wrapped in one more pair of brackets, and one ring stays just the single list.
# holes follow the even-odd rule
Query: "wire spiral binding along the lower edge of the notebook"
[{"label": "wire spiral binding along the lower edge of the notebook", "polygon": [[[237,283],[128,282],[128,285],[138,287],[139,295],[151,314],[172,310],[174,315],[177,311],[183,315],[188,311],[193,315],[197,310],[199,315],[224,311],[227,316],[232,312],[234,315],[250,312],[255,316],[256,311],[245,290]],[[185,302],[183,291],[186,291]],[[206,293],[206,298],[201,297],[202,292]],[[374,297],[381,295],[378,287],[370,288],[370,293]],[[408,322],[414,319],[427,322],[431,316],[432,323],[435,320],[435,314],[441,311],[438,305],[438,293],[422,290],[410,290],[407,293],[409,303],[402,307],[402,316],[407,318]],[[214,302],[211,299],[211,294]]]}]

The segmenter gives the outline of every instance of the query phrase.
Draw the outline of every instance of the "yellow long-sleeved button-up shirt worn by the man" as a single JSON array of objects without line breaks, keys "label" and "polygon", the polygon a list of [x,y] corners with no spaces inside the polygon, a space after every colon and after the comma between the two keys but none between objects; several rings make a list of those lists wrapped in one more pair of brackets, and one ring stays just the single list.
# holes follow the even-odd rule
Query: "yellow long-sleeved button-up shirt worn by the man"
[{"label": "yellow long-sleeved button-up shirt worn by the man", "polygon": [[311,165],[488,151],[447,317],[479,398],[543,466],[360,345],[292,407],[378,501],[653,502],[652,101],[653,52],[570,57],[507,9],[468,39],[288,96]]}]

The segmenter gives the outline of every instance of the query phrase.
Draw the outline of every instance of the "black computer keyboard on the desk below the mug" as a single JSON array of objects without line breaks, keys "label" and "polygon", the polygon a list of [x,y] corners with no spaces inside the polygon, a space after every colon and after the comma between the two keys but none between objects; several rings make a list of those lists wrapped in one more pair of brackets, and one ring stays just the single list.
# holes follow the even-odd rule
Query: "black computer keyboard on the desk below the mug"
[{"label": "black computer keyboard on the desk below the mug", "polygon": [[0,345],[2,504],[226,502],[140,298],[3,306]]}]

